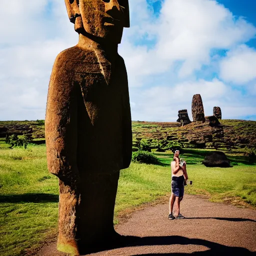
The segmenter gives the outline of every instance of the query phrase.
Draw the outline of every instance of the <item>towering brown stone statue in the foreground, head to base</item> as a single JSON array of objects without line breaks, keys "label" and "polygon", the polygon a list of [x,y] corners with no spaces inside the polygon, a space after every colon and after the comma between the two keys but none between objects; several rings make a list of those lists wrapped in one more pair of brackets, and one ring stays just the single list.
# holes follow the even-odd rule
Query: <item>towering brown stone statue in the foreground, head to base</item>
[{"label": "towering brown stone statue in the foreground, head to base", "polygon": [[118,235],[119,170],[131,159],[127,74],[117,53],[128,0],[65,0],[78,44],[56,57],[47,98],[48,169],[59,178],[57,248],[85,253]]}]

